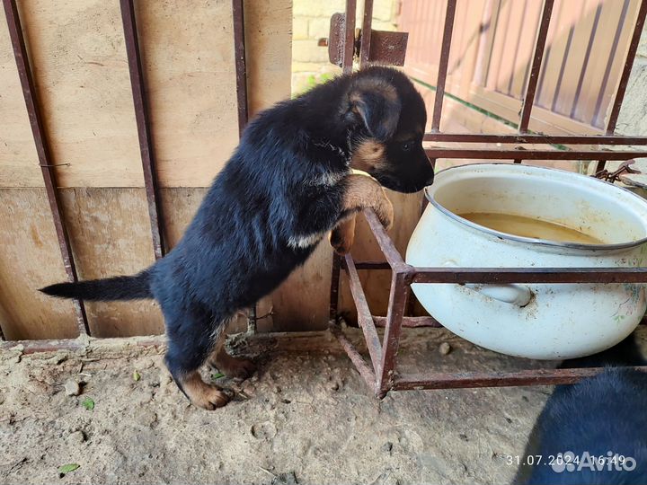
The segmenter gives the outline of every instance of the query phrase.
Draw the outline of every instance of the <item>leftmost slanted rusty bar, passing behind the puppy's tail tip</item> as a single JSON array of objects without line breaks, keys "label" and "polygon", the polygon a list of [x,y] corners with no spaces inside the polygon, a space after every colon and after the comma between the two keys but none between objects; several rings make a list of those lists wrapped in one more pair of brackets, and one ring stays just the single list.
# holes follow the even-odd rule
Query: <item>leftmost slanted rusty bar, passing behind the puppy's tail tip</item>
[{"label": "leftmost slanted rusty bar, passing behind the puppy's tail tip", "polygon": [[[15,0],[3,0],[3,5],[7,25],[9,27],[9,35],[13,45],[13,57],[15,57],[16,66],[18,67],[18,75],[20,75],[22,86],[22,95],[24,96],[25,105],[27,106],[31,132],[36,145],[36,153],[39,157],[40,171],[42,172],[43,181],[45,182],[49,208],[51,210],[54,228],[56,229],[58,237],[58,247],[60,248],[61,256],[63,258],[63,266],[65,266],[67,279],[74,282],[77,278],[74,257],[72,255],[72,247],[63,221],[61,203],[58,198],[56,172],[54,170],[53,163],[51,162],[49,145],[47,143],[45,129],[43,128],[43,122],[38,108],[38,96],[36,88],[34,87],[33,76],[31,75],[27,48],[25,47],[24,37],[22,36],[20,15],[18,13]],[[79,333],[82,335],[89,334],[90,328],[88,327],[84,304],[80,300],[73,300],[73,302],[76,314],[76,325]]]}]

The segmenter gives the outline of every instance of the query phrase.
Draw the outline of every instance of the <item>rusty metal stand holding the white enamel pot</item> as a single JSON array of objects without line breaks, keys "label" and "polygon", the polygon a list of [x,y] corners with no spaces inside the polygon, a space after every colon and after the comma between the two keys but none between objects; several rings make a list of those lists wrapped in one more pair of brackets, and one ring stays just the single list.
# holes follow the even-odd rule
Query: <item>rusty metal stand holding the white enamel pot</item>
[{"label": "rusty metal stand holding the white enamel pot", "polygon": [[[515,372],[432,372],[401,375],[397,369],[397,353],[402,329],[442,326],[431,317],[404,316],[412,283],[647,283],[647,268],[416,268],[404,262],[376,214],[367,209],[364,216],[386,262],[356,262],[348,254],[344,259],[343,269],[348,276],[350,294],[357,307],[358,323],[364,333],[370,362],[367,364],[359,350],[346,338],[341,327],[332,323],[331,331],[357,367],[359,374],[378,397],[384,397],[389,391],[572,384],[582,377],[595,375],[601,370],[599,368],[536,369]],[[392,270],[386,317],[370,313],[358,269]],[[377,327],[385,328],[382,340],[379,339]],[[635,368],[647,372],[647,366]]]}]

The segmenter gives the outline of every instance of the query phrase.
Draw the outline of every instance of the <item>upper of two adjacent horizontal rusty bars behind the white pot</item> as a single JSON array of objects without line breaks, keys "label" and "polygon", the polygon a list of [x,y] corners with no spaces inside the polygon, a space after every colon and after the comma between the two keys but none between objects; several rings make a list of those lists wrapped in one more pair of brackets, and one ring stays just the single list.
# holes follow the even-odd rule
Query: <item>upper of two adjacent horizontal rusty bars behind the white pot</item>
[{"label": "upper of two adjacent horizontal rusty bars behind the white pot", "polygon": [[477,133],[425,133],[423,141],[452,143],[514,143],[561,145],[647,145],[647,137],[616,135],[481,135]]}]

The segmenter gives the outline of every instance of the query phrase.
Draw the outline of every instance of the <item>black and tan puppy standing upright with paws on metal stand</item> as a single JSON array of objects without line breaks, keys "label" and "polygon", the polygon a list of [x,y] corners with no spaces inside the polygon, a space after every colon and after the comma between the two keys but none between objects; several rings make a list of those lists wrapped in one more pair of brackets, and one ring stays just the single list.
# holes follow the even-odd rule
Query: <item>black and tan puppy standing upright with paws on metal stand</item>
[{"label": "black and tan puppy standing upright with paws on metal stand", "polygon": [[[361,209],[371,207],[382,224],[392,224],[380,184],[414,192],[433,180],[422,149],[426,117],[412,83],[386,67],[340,76],[280,102],[245,129],[166,257],[135,276],[41,291],[84,300],[155,298],[175,382],[193,404],[222,406],[226,394],[205,384],[198,369],[218,347],[226,321],[278,287],[332,229],[332,244],[348,251]],[[250,369],[224,352],[219,357],[230,375]]]}]

